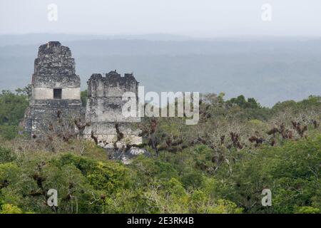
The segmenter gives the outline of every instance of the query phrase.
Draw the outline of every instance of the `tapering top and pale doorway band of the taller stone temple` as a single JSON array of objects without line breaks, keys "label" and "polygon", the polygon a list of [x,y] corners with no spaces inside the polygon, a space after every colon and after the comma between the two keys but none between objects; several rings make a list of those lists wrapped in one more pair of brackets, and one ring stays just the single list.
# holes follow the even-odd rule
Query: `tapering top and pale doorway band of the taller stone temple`
[{"label": "tapering top and pale doorway band of the taller stone temple", "polygon": [[75,73],[75,60],[71,58],[70,49],[57,41],[41,45],[34,61],[31,84],[31,102],[53,99],[54,88],[61,88],[62,99],[80,99],[81,81]]}]

